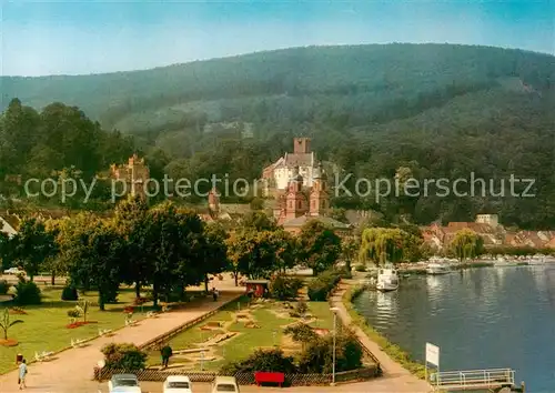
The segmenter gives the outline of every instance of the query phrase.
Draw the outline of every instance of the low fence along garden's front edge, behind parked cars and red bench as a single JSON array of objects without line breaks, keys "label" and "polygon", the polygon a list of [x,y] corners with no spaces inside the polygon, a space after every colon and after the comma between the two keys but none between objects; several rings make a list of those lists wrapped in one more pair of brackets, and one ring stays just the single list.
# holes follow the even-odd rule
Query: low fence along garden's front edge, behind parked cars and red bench
[{"label": "low fence along garden's front edge, behind parked cars and red bench", "polygon": [[[169,370],[155,370],[145,369],[139,371],[125,371],[125,370],[110,370],[110,369],[95,369],[94,380],[102,382],[108,381],[114,374],[134,374],[139,381],[150,381],[150,382],[163,382],[170,375],[183,375],[189,376],[191,382],[212,382],[218,375],[218,373],[211,372],[183,372],[183,371],[169,371]],[[238,373],[234,375],[240,385],[253,385],[254,373]],[[375,366],[344,371],[335,373],[335,382],[357,382],[366,381],[369,379],[377,376],[377,369]],[[329,385],[332,382],[332,374],[285,374],[285,385],[287,386],[311,386],[311,385]]]}]

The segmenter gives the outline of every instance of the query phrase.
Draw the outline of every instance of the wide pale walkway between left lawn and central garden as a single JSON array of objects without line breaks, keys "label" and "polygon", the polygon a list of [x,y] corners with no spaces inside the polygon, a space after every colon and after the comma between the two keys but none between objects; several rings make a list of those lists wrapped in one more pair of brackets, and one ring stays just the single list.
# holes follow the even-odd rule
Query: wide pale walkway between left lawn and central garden
[{"label": "wide pale walkway between left lawn and central garden", "polygon": [[[223,285],[218,285],[219,288]],[[171,331],[188,321],[192,321],[221,304],[239,296],[236,291],[222,292],[219,300],[212,299],[194,302],[188,309],[160,314],[155,319],[145,319],[135,326],[123,328],[111,337],[99,337],[88,346],[71,349],[57,355],[50,362],[29,365],[28,390],[40,393],[97,393],[98,383],[92,383],[93,367],[103,357],[100,349],[111,342],[132,342],[137,345]],[[240,291],[244,289],[239,288]],[[48,340],[46,337],[46,340]],[[17,371],[0,375],[0,392],[20,392],[17,385]],[[92,389],[92,390],[91,390]]]}]

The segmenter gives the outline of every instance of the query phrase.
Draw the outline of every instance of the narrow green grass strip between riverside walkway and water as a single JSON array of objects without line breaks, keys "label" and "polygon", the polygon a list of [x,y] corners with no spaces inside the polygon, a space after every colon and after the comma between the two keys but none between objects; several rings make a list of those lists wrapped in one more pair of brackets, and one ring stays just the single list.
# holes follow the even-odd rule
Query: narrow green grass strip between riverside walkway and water
[{"label": "narrow green grass strip between riverside walkway and water", "polygon": [[343,294],[343,304],[347,310],[349,314],[353,319],[353,323],[355,323],[362,331],[369,336],[370,340],[375,342],[382,351],[384,351],[390,357],[392,357],[395,362],[400,363],[404,369],[408,370],[411,373],[416,375],[420,379],[425,377],[424,365],[421,363],[414,362],[408,353],[403,351],[398,345],[391,343],[385,336],[383,336],[380,332],[374,330],[364,318],[362,318],[353,306],[352,301],[356,299],[362,292],[364,292],[364,286],[355,286],[350,288]]}]

